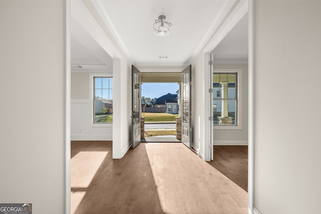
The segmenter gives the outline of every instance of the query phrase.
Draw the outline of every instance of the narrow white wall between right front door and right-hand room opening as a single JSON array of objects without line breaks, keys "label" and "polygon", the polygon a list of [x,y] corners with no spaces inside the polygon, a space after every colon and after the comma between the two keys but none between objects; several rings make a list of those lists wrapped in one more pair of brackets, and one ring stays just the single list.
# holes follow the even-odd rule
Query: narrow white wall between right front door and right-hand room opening
[{"label": "narrow white wall between right front door and right-hand room opening", "polygon": [[192,146],[204,158],[204,53],[192,63]]}]

